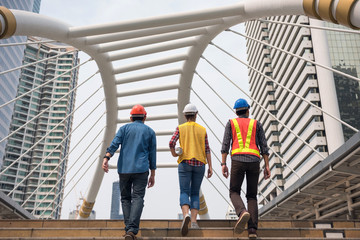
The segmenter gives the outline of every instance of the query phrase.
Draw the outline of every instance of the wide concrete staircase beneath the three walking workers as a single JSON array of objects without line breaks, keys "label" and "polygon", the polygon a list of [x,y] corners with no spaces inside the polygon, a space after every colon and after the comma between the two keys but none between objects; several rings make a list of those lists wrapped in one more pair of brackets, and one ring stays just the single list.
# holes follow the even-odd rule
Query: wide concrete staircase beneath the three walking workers
[{"label": "wide concrete staircase beneath the three walking workers", "polygon": [[[180,220],[142,220],[138,239],[248,239],[247,231],[236,234],[234,220],[199,220],[201,229],[190,229],[181,237]],[[115,220],[0,220],[0,240],[27,239],[123,239],[123,221]],[[268,221],[259,222],[257,239],[360,239],[356,221]]]}]

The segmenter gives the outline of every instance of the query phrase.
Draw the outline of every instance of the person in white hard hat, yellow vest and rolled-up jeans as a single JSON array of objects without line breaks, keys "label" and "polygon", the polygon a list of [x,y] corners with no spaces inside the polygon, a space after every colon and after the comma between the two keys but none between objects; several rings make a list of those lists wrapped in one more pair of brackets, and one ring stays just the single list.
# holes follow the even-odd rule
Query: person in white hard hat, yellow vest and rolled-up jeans
[{"label": "person in white hard hat, yellow vest and rolled-up jeans", "polygon": [[[179,125],[174,132],[169,147],[171,154],[178,158],[178,173],[180,184],[180,206],[183,212],[181,234],[188,233],[188,225],[191,220],[191,228],[199,228],[196,218],[200,208],[199,192],[205,172],[205,164],[209,165],[207,177],[212,176],[211,154],[206,130],[197,124],[198,110],[194,104],[187,104],[183,113],[186,123]],[[177,140],[180,141],[182,152],[175,151]],[[191,211],[191,219],[189,216]]]}]

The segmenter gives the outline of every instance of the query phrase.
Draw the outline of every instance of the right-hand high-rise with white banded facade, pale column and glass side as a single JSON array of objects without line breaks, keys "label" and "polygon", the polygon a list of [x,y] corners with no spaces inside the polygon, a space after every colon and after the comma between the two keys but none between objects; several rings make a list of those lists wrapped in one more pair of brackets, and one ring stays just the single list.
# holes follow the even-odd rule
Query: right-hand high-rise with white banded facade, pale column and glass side
[{"label": "right-hand high-rise with white banded facade, pale column and glass side", "polygon": [[[247,35],[354,76],[359,74],[360,68],[357,65],[359,58],[356,60],[359,56],[349,54],[350,49],[354,48],[357,50],[352,51],[358,54],[360,49],[358,36],[348,37],[347,46],[344,46],[343,33],[327,33],[275,23],[276,21],[324,25],[306,16],[277,16],[269,17],[267,20],[269,21],[247,22]],[[349,130],[336,120],[293,93],[359,128],[360,126],[356,126],[359,125],[359,121],[356,123],[355,119],[351,119],[354,118],[354,112],[351,115],[349,112],[354,111],[356,107],[359,109],[360,92],[356,81],[349,81],[346,77],[249,38],[247,56],[249,65],[264,74],[260,75],[249,69],[248,75],[250,93],[254,99],[250,114],[263,124],[271,148],[272,180],[278,186],[272,181],[265,181],[263,176],[260,176],[259,203],[266,204],[266,201],[272,200],[282,190],[291,186],[354,134],[354,132],[347,133]],[[351,61],[347,58],[349,56]],[[348,65],[343,65],[342,62]],[[344,82],[352,86],[350,91],[349,87],[344,86]],[[349,104],[351,107],[343,107]],[[349,116],[348,119],[346,116]],[[312,148],[318,153],[314,153]],[[263,164],[262,162],[261,166]]]}]

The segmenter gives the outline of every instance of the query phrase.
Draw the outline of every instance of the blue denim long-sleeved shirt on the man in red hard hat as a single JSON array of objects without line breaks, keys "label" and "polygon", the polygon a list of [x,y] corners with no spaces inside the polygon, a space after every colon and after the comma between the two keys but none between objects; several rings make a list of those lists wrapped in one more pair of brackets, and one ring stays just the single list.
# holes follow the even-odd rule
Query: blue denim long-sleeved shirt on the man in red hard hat
[{"label": "blue denim long-sleeved shirt on the man in red hard hat", "polygon": [[122,126],[106,151],[113,156],[119,145],[118,173],[143,173],[156,169],[155,132],[142,121]]}]

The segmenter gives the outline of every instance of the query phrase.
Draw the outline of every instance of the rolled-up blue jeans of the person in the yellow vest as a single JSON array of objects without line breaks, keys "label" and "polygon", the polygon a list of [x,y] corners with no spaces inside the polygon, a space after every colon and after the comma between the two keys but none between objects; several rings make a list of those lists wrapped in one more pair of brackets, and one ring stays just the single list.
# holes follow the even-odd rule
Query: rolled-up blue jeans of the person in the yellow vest
[{"label": "rolled-up blue jeans of the person in the yellow vest", "polygon": [[180,206],[189,205],[190,209],[199,209],[199,192],[204,177],[205,165],[191,166],[181,162],[178,167],[180,184]]}]

